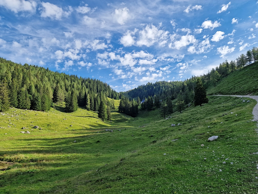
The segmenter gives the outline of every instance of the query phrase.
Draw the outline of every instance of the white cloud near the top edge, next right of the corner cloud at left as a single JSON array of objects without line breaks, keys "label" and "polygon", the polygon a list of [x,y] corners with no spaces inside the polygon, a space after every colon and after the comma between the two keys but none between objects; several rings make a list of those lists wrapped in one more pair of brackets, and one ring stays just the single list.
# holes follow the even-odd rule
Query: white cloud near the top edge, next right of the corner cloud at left
[{"label": "white cloud near the top edge, next right of the corner cloud at left", "polygon": [[68,17],[72,12],[71,6],[69,6],[69,11],[67,12],[49,2],[42,2],[41,5],[43,6],[43,8],[41,8],[41,17],[43,18],[49,17],[51,19],[60,20],[63,16]]}]

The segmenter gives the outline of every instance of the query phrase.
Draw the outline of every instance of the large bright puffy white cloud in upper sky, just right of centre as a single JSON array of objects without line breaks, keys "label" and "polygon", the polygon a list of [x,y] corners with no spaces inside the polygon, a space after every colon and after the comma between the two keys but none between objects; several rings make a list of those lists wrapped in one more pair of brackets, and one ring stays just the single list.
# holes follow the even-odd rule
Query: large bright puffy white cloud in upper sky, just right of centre
[{"label": "large bright puffy white cloud in upper sky, just right of centre", "polygon": [[168,31],[159,30],[154,25],[147,25],[140,32],[139,40],[136,42],[138,46],[150,47],[155,42],[162,42],[164,39],[168,38]]}]

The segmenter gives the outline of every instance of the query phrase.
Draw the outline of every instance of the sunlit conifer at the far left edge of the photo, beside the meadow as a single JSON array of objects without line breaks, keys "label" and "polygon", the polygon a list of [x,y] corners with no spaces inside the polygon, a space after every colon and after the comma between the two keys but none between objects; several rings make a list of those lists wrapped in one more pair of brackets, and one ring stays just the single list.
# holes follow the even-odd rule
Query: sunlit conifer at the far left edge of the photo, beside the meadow
[{"label": "sunlit conifer at the far left edge of the photo, beside the meadow", "polygon": [[7,80],[4,78],[0,83],[0,111],[9,110],[9,89],[7,85]]}]

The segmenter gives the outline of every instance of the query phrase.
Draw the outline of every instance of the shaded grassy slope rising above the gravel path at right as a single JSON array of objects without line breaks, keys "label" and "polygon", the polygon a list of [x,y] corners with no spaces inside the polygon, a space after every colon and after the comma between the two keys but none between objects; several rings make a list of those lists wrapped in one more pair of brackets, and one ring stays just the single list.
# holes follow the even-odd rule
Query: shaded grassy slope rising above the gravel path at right
[{"label": "shaded grassy slope rising above the gravel path at right", "polygon": [[246,95],[250,93],[258,95],[258,63],[233,72],[227,78],[222,79],[216,88],[210,86],[207,89],[207,94],[210,95]]}]

